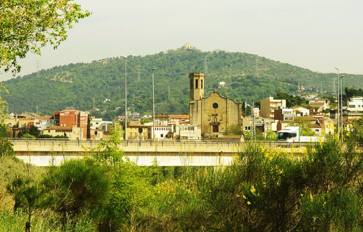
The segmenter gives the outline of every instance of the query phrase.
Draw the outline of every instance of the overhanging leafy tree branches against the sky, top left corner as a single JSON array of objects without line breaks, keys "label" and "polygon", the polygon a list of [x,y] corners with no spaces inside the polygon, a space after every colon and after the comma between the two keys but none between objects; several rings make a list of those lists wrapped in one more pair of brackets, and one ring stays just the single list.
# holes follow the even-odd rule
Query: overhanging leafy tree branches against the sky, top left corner
[{"label": "overhanging leafy tree branches against the sky, top left corner", "polygon": [[20,71],[18,58],[28,52],[41,54],[50,43],[54,48],[67,38],[67,29],[90,16],[71,0],[2,0],[0,4],[0,66]]}]

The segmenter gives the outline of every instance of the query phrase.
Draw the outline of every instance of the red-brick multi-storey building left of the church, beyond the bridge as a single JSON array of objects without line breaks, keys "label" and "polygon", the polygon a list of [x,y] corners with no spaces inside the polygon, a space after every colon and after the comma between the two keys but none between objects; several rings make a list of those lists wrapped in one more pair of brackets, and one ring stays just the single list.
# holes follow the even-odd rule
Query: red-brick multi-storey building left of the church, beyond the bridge
[{"label": "red-brick multi-storey building left of the church, beyond the bridge", "polygon": [[61,127],[76,126],[77,128],[81,128],[83,138],[85,139],[87,138],[87,124],[89,115],[89,112],[75,110],[73,108],[55,111],[54,125]]}]

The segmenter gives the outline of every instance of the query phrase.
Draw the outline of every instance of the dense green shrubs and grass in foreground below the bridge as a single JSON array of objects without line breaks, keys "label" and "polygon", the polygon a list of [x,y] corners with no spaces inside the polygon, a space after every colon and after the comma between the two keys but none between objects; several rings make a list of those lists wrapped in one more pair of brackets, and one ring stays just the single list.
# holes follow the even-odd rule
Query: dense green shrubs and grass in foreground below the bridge
[{"label": "dense green shrubs and grass in foreground below the bridge", "polygon": [[221,168],[139,167],[120,133],[82,160],[41,169],[0,159],[0,231],[362,231],[363,122],[300,159],[248,145]]}]

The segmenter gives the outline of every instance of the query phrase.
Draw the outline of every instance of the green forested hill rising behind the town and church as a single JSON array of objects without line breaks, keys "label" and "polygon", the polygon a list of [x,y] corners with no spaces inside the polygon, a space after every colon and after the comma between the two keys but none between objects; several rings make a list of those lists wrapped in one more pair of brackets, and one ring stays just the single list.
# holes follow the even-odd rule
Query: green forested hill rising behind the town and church
[{"label": "green forested hill rising behind the town and church", "polygon": [[[54,111],[74,107],[112,120],[124,112],[124,67],[123,57],[58,66],[6,81],[4,86],[10,93],[2,97],[14,113],[53,115]],[[336,73],[315,73],[247,53],[180,48],[127,58],[130,111],[152,112],[154,67],[155,111],[169,114],[188,113],[190,72],[206,74],[205,96],[217,88],[223,96],[248,103],[278,92],[297,94],[299,82],[302,87],[316,86],[319,93],[326,91],[329,95],[336,79]],[[363,84],[363,75],[345,75],[344,87],[352,87],[352,80],[355,88]],[[218,82],[226,85],[219,87]],[[115,110],[117,107],[121,108]]]}]

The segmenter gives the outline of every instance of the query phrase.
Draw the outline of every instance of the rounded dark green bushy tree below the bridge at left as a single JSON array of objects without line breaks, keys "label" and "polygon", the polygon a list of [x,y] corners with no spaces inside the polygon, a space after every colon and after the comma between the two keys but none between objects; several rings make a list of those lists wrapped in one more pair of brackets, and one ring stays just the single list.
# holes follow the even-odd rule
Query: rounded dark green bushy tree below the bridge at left
[{"label": "rounded dark green bushy tree below the bridge at left", "polygon": [[53,193],[52,208],[65,221],[91,212],[97,217],[108,198],[110,176],[106,165],[91,158],[68,160],[59,168],[50,169],[43,179],[47,192]]}]

